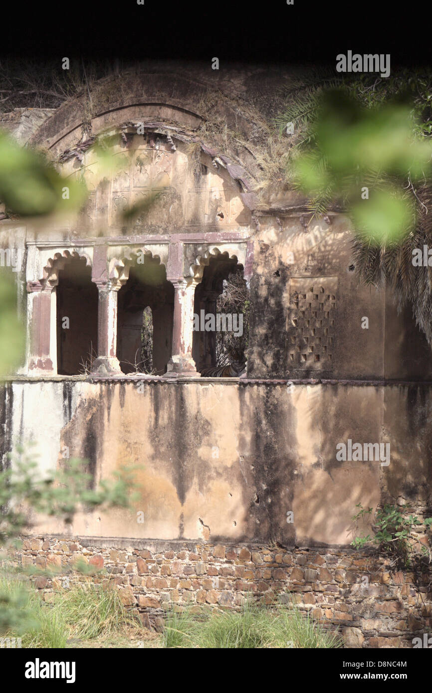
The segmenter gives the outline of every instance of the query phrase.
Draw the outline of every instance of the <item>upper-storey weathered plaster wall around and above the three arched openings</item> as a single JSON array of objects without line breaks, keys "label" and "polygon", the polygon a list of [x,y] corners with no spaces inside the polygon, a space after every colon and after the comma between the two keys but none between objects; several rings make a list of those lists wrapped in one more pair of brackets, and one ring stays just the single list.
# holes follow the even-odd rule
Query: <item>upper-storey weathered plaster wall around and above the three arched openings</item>
[{"label": "upper-storey weathered plaster wall around and above the three arched openings", "polygon": [[[218,117],[227,111],[236,112],[232,84],[240,85],[244,78],[238,75],[225,85],[229,96],[221,97],[214,104]],[[278,201],[279,207],[271,207],[270,202],[258,203],[251,193],[244,192],[255,175],[253,167],[249,170],[252,178],[248,183],[237,165],[245,155],[244,148],[230,152],[232,161],[237,162],[235,165],[216,156],[221,152],[202,148],[203,116],[196,113],[204,107],[203,94],[210,98],[211,92],[211,98],[214,97],[209,84],[188,75],[173,91],[173,76],[168,76],[166,71],[162,71],[162,76],[156,71],[150,75],[128,76],[122,82],[120,102],[115,82],[112,78],[102,80],[96,87],[95,103],[100,100],[103,115],[94,112],[92,132],[87,133],[93,136],[108,128],[114,135],[113,159],[122,162],[115,173],[109,175],[105,171],[102,179],[98,175],[97,157],[87,148],[92,139],[87,136],[86,139],[81,127],[84,121],[80,119],[85,119],[83,96],[53,113],[33,138],[40,146],[49,143],[53,153],[62,156],[65,174],[80,175],[85,171],[89,200],[76,218],[64,218],[61,224],[56,220],[49,233],[47,228],[39,229],[33,223],[25,228],[21,222],[0,221],[0,245],[20,247],[23,252],[23,272],[16,275],[20,305],[25,297],[25,280],[44,277],[56,252],[75,250],[92,264],[90,238],[97,237],[97,243],[102,243],[103,236],[109,236],[107,256],[111,271],[115,263],[123,262],[128,246],[138,237],[142,242],[146,235],[153,234],[146,247],[151,247],[153,256],[160,256],[162,263],[168,263],[170,240],[180,245],[190,237],[193,242],[184,246],[181,268],[184,276],[188,276],[197,256],[209,252],[209,244],[193,239],[193,234],[216,233],[213,248],[223,244],[224,236],[238,234],[244,247],[248,238],[252,238],[254,246],[253,262],[251,254],[248,255],[248,270],[252,274],[248,376],[362,380],[431,377],[430,349],[410,310],[397,316],[389,292],[358,286],[349,220],[336,213],[311,220],[304,212],[304,200],[292,191],[286,191],[284,199]],[[147,101],[146,90],[148,98],[157,93],[161,101]],[[245,100],[239,106],[237,124],[243,128],[244,135],[254,139],[254,133],[262,128],[261,116],[257,108],[248,105],[246,91],[239,92]],[[164,99],[166,105],[162,107],[160,103],[165,103]],[[170,108],[175,110],[175,114],[171,113],[173,118],[175,115],[174,120]],[[103,123],[99,122],[101,119]],[[186,127],[180,123],[182,119],[191,122]],[[146,135],[136,134],[132,125],[137,121],[146,123]],[[172,126],[170,137],[175,141],[174,146],[167,138],[164,124]],[[207,173],[203,173],[202,166]],[[148,209],[122,220],[122,209],[127,204],[146,200],[153,186],[161,186],[161,197]],[[32,241],[35,236],[39,236],[37,245]],[[114,240],[121,236],[125,236],[124,243]],[[155,243],[159,238],[161,243]],[[232,256],[238,253],[234,245],[224,245],[223,249]],[[315,335],[315,318],[309,313],[305,316],[311,322],[306,330],[309,344],[305,349],[300,347],[304,335],[299,337],[299,325],[293,324],[293,319],[299,318],[300,308],[293,306],[293,295],[299,288],[304,292],[308,288],[322,288],[326,297],[334,296],[328,324],[322,323]],[[312,307],[310,313],[313,312]],[[369,321],[368,329],[362,328],[364,318]],[[328,335],[323,335],[322,330],[327,328]],[[292,359],[291,352],[296,349],[300,349],[299,359]],[[54,354],[51,356],[54,358]],[[320,360],[316,360],[317,356]],[[303,357],[306,357],[304,362]]]}]

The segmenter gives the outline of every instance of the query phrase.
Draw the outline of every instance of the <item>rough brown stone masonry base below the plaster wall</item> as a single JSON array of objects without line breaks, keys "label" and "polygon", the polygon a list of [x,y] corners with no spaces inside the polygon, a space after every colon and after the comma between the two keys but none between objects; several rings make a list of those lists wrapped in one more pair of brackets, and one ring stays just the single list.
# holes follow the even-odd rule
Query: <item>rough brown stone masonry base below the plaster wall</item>
[{"label": "rough brown stone masonry base below the plaster wall", "polygon": [[[250,593],[271,604],[288,602],[288,591],[302,611],[338,627],[345,647],[413,647],[432,629],[430,577],[390,572],[388,559],[368,551],[35,536],[24,538],[15,561],[33,573],[47,602],[68,582],[90,580],[118,589],[121,602],[158,631],[173,605],[239,608]],[[77,561],[92,574],[75,573]]]}]

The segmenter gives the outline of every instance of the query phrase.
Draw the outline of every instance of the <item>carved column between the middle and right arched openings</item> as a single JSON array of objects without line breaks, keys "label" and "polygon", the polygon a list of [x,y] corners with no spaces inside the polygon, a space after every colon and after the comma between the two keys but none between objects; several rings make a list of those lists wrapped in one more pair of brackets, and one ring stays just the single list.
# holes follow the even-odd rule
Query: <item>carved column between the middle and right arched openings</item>
[{"label": "carved column between the middle and right arched openings", "polygon": [[193,299],[198,280],[171,279],[174,286],[173,352],[165,376],[197,374],[192,358]]}]

